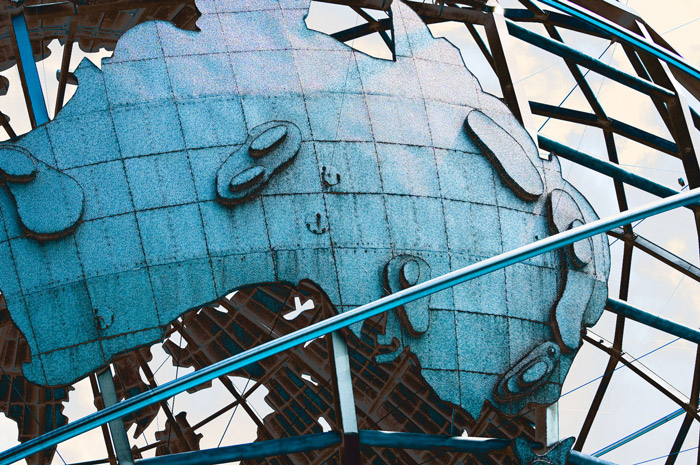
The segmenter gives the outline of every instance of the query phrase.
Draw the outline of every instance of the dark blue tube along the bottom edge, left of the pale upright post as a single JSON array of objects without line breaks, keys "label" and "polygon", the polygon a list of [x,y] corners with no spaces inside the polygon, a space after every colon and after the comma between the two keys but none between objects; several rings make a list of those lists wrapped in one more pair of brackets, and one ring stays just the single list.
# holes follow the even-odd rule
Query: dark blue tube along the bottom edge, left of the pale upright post
[{"label": "dark blue tube along the bottom edge, left of the pale upright post", "polygon": [[218,447],[180,454],[170,454],[136,461],[136,465],[214,465],[238,460],[254,460],[276,455],[295,454],[312,450],[327,449],[339,445],[340,433],[308,434],[291,438],[272,439],[236,446]]}]

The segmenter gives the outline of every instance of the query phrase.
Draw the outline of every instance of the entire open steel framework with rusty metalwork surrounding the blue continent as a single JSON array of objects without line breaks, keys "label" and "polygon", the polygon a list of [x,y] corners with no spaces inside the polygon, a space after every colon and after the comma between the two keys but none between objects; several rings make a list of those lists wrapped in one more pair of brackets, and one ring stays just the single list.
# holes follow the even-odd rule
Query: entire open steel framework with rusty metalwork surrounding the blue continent
[{"label": "entire open steel framework with rusty metalwork surrounding the blue continent", "polygon": [[[370,34],[378,34],[393,53],[393,25],[390,14],[392,0],[322,1],[348,6],[364,20],[363,24],[335,33],[336,39],[351,42]],[[504,254],[500,259],[496,257],[496,262],[479,264],[480,267],[473,269],[469,267],[457,277],[448,276],[441,281],[438,281],[440,278],[436,278],[424,283],[426,286],[420,289],[416,286],[411,288],[410,292],[402,291],[393,300],[388,297],[386,301],[382,299],[377,303],[339,316],[332,315],[331,309],[323,304],[323,298],[319,297],[318,291],[312,287],[301,290],[276,287],[241,291],[231,299],[218,302],[219,305],[238,309],[226,317],[233,318],[235,321],[224,321],[225,317],[221,312],[217,312],[213,307],[206,307],[201,311],[185,315],[178,323],[173,324],[172,334],[180,334],[188,339],[190,347],[196,347],[197,351],[180,354],[178,347],[172,342],[166,344],[165,348],[181,366],[194,367],[196,369],[194,373],[157,386],[147,363],[150,359],[149,351],[147,349],[135,351],[114,363],[113,380],[111,374],[107,376],[108,379],[105,379],[104,373],[91,376],[96,403],[100,407],[104,405],[111,405],[111,407],[68,425],[64,425],[65,418],[62,416],[60,402],[57,403],[57,400],[65,398],[69,388],[38,392],[34,387],[25,386],[26,380],[23,380],[19,367],[28,357],[28,349],[22,345],[16,329],[9,324],[6,312],[0,313],[0,331],[6,335],[6,340],[13,341],[12,344],[5,344],[6,347],[3,347],[2,351],[5,360],[3,366],[6,369],[12,367],[13,371],[3,373],[3,381],[0,383],[0,395],[2,395],[0,408],[10,417],[20,421],[20,424],[26,425],[20,433],[23,444],[0,453],[0,463],[13,463],[48,449],[49,451],[44,452],[44,455],[33,455],[30,459],[30,463],[44,463],[53,455],[51,451],[56,444],[94,427],[102,428],[108,457],[103,461],[91,463],[114,464],[117,460],[129,463],[134,459],[136,463],[143,465],[223,463],[232,460],[258,463],[263,459],[267,461],[266,457],[277,457],[271,459],[270,463],[308,463],[319,457],[321,460],[326,460],[339,455],[342,455],[348,463],[359,463],[361,454],[367,454],[368,447],[375,448],[376,456],[394,463],[397,460],[424,463],[423,461],[428,460],[435,451],[442,451],[445,454],[440,459],[440,463],[455,463],[464,457],[479,463],[500,462],[505,460],[502,451],[509,446],[509,438],[526,436],[533,442],[541,440],[537,434],[537,426],[540,424],[536,415],[525,416],[521,421],[508,423],[498,418],[498,414],[494,412],[490,421],[491,425],[496,425],[495,428],[486,424],[470,425],[484,436],[488,436],[487,439],[453,437],[452,433],[464,429],[468,420],[459,411],[449,408],[439,399],[430,396],[429,390],[421,384],[424,381],[416,375],[415,362],[410,356],[398,358],[386,368],[390,372],[369,373],[367,370],[370,365],[366,361],[359,359],[348,361],[346,344],[353,349],[354,353],[371,357],[373,353],[381,351],[381,347],[376,345],[376,338],[373,339],[372,336],[372,331],[381,324],[381,312],[436,292],[439,288],[461,282],[460,280],[496,269],[496,266],[506,266],[566,243],[561,241],[570,242],[601,231],[607,231],[613,240],[624,243],[619,295],[617,298],[610,298],[607,305],[607,310],[614,313],[617,318],[615,337],[611,343],[601,341],[592,333],[585,337],[588,343],[607,354],[609,361],[602,371],[602,381],[576,439],[574,452],[569,456],[569,463],[604,463],[601,459],[587,456],[580,451],[586,444],[591,429],[596,425],[599,408],[610,386],[615,368],[620,364],[628,366],[642,380],[656,387],[659,392],[678,405],[676,412],[650,425],[657,427],[673,418],[683,417],[676,437],[668,445],[669,455],[666,464],[672,465],[676,461],[691,425],[694,421],[700,420],[698,413],[700,347],[694,366],[690,395],[685,396],[668,387],[663,380],[630,359],[623,351],[622,344],[625,337],[625,324],[629,319],[695,344],[700,342],[698,331],[656,318],[627,303],[630,297],[630,276],[633,271],[634,254],[648,254],[689,279],[700,282],[700,269],[691,264],[691,260],[665,250],[637,234],[633,228],[633,221],[637,219],[671,207],[686,206],[691,210],[696,228],[700,232],[698,196],[697,194],[679,194],[674,189],[620,166],[615,136],[643,144],[657,152],[659,156],[680,160],[690,189],[700,187],[697,155],[697,151],[700,150],[698,138],[700,115],[689,106],[687,98],[688,95],[692,95],[700,100],[700,72],[687,64],[642,18],[618,2],[519,0],[519,5],[512,8],[504,8],[496,1],[482,0],[425,2],[406,0],[405,3],[413,8],[427,24],[451,21],[466,25],[474,42],[498,76],[505,102],[533,136],[536,135],[532,122],[533,115],[600,130],[605,140],[604,156],[583,153],[543,135],[537,135],[537,141],[543,153],[555,153],[573,163],[608,176],[614,184],[620,214],[610,221],[601,222],[597,226],[598,229],[588,228],[586,231],[576,232],[566,237],[562,234],[558,245],[555,244],[556,241],[552,241],[551,244],[544,244],[545,241],[542,241],[543,244],[532,244],[519,254],[508,256]],[[58,39],[65,44],[62,66],[58,75],[58,94],[55,99],[55,112],[58,112],[64,103],[66,86],[72,79],[69,63],[74,42],[77,42],[85,52],[92,52],[100,47],[113,49],[121,34],[140,22],[161,19],[171,21],[182,28],[194,29],[197,18],[196,7],[191,1],[82,2],[76,0],[45,3],[6,0],[2,2],[2,7],[0,69],[4,70],[15,65],[18,67],[26,110],[33,127],[44,124],[49,119],[35,65],[35,60],[41,59],[48,53],[49,41]],[[377,12],[387,13],[386,18],[375,19],[378,17]],[[530,27],[532,25],[541,26],[539,29],[546,31],[546,34],[534,32],[534,28]],[[590,35],[609,41],[611,44],[619,43],[635,74],[623,72],[584,53],[577,49],[576,44],[567,44],[562,35],[564,30]],[[523,84],[519,82],[519,76],[516,76],[513,71],[515,58],[510,44],[515,40],[563,59],[578,88],[585,96],[590,110],[581,111],[529,100]],[[599,101],[591,87],[586,70],[616,81],[648,98],[668,129],[671,138],[659,137],[625,121],[611,118],[606,112],[605,102]],[[0,88],[0,92],[6,93],[7,82],[2,84],[4,89]],[[459,83],[454,84],[459,85]],[[9,118],[1,112],[0,124],[9,138],[17,136]],[[627,214],[626,212],[630,209],[626,186],[633,186],[658,197],[669,198],[669,202],[633,210]],[[546,247],[550,248],[546,249]],[[693,253],[697,254],[697,249],[694,249]],[[312,295],[316,295],[314,302],[317,306],[314,312],[305,317],[308,321],[296,321],[296,326],[285,323],[278,318],[279,313],[275,314],[272,311],[274,308],[290,306],[294,297],[306,298]],[[252,318],[253,315],[257,316],[257,320]],[[366,321],[362,340],[341,331],[343,327],[363,320]],[[271,340],[266,337],[269,334],[266,335],[263,328],[275,328],[276,324],[284,326],[284,330],[279,330],[278,334],[285,337]],[[301,351],[294,348],[322,335],[327,335],[326,340],[314,342],[311,346],[313,350]],[[254,349],[247,351],[233,349],[253,346]],[[330,357],[329,354],[333,356]],[[326,364],[327,359],[332,360],[333,363]],[[342,366],[343,363],[345,367]],[[304,372],[312,373],[312,377],[319,383],[318,389],[301,389],[301,384],[295,383],[293,374],[288,370],[285,371],[288,365],[303,366]],[[349,369],[344,370],[348,366]],[[247,375],[255,379],[254,385],[245,392],[239,392],[225,376],[236,368],[247,370]],[[145,372],[148,383],[139,377],[139,369]],[[231,393],[232,400],[205,422],[190,425],[185,415],[175,415],[169,410],[165,402],[167,398],[184,390],[196,390],[201,383],[216,378],[224,383]],[[271,383],[282,388],[276,391],[278,397],[273,399],[275,414],[263,421],[249,405],[247,397],[260,386],[269,386]],[[109,384],[112,384],[112,391],[115,391],[114,385],[117,386],[111,402],[107,399],[109,389],[105,388]],[[17,386],[22,386],[26,400],[34,399],[33,410],[30,408],[22,410],[23,405],[17,401],[16,396],[12,395],[13,390],[18,389]],[[354,395],[352,388],[354,388]],[[408,403],[402,397],[405,396],[406,389],[412,390],[413,393],[424,393],[421,402],[415,403],[413,398],[415,404]],[[379,399],[382,402],[386,401],[384,404],[373,403],[376,402],[377,397],[365,395],[378,392],[383,393],[383,397]],[[256,420],[259,442],[198,453],[190,452],[199,449],[198,428],[236,406],[249,411],[251,418]],[[421,411],[422,408],[425,411]],[[114,430],[118,430],[118,427],[112,431],[111,436],[114,437],[110,437],[106,426],[108,422],[115,425],[115,421],[118,424],[118,419],[123,417],[127,426],[137,424],[138,435],[139,431],[153,421],[159,409],[163,409],[166,413],[168,423],[164,430],[158,433],[158,442],[145,449],[132,450],[128,447],[127,440],[125,451],[124,444],[116,438],[119,435]],[[355,409],[357,418],[347,413]],[[309,428],[309,423],[303,421],[304,415],[327,417],[331,431],[319,432]],[[37,417],[42,420],[37,420]],[[33,421],[38,426],[33,424]],[[420,434],[426,432],[426,422],[433,422],[428,428],[433,435]],[[392,435],[382,431],[371,431],[377,427],[382,430],[408,429],[415,432]],[[121,428],[123,430],[123,426]],[[289,431],[294,431],[298,436],[283,438],[282,432]],[[637,436],[631,435],[610,447],[619,447]],[[139,458],[142,452],[153,448],[161,452],[159,453],[162,455],[161,458]],[[602,455],[604,452],[606,451],[596,455]],[[129,457],[125,457],[124,454]]]}]

